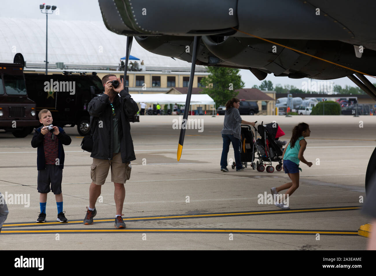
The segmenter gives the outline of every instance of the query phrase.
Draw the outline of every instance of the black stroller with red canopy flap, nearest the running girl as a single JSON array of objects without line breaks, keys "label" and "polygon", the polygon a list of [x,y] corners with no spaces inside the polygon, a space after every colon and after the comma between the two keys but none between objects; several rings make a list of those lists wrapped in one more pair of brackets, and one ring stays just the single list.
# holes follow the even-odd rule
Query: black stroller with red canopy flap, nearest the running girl
[{"label": "black stroller with red canopy flap, nearest the running girl", "polygon": [[261,122],[261,125],[258,125],[257,128],[261,138],[256,139],[257,154],[260,161],[257,161],[256,169],[259,172],[263,172],[266,166],[266,171],[272,173],[274,172],[274,167],[271,162],[278,162],[276,170],[282,170],[283,152],[280,146],[277,145],[276,139],[285,135],[285,133],[276,122],[266,125]]}]

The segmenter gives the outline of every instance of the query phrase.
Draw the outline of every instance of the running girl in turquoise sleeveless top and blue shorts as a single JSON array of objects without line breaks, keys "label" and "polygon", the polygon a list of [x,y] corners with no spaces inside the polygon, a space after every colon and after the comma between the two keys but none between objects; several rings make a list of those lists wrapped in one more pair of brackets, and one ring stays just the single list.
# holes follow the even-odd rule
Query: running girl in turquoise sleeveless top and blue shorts
[{"label": "running girl in turquoise sleeveless top and blue shorts", "polygon": [[[299,167],[299,161],[302,161],[309,167],[312,166],[312,162],[308,162],[303,157],[303,152],[305,151],[307,146],[305,137],[309,137],[310,134],[311,130],[309,130],[309,125],[306,123],[300,123],[294,127],[291,140],[282,154],[282,169],[285,171],[285,173],[288,174],[291,182],[283,184],[279,187],[271,188],[271,193],[273,195],[278,194],[280,191],[288,189],[285,195],[286,197],[289,197],[295,192],[296,189],[298,189],[299,170],[302,170]],[[275,205],[283,209],[290,209],[290,207],[284,205],[283,202],[276,202]]]}]

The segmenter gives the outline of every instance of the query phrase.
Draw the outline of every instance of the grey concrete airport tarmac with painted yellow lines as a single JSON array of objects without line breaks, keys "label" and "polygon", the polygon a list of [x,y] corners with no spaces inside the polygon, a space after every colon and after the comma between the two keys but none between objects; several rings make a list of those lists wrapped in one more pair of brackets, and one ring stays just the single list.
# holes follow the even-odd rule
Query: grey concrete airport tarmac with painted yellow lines
[{"label": "grey concrete airport tarmac with painted yellow lines", "polygon": [[[47,198],[47,223],[39,214],[36,149],[32,134],[15,138],[0,133],[0,192],[30,195],[25,204],[8,204],[0,249],[227,249],[362,250],[367,238],[358,228],[370,222],[360,213],[368,159],[376,146],[373,116],[242,116],[246,121],[275,120],[290,140],[294,125],[306,122],[311,136],[301,163],[300,187],[289,198],[290,210],[258,204],[258,195],[288,181],[283,171],[220,171],[224,116],[200,119],[203,131],[186,130],[182,158],[176,160],[178,116],[140,116],[131,123],[136,153],[126,183],[123,218],[114,228],[114,185],[110,174],[96,204],[93,225],[83,225],[89,202],[90,153],[82,152],[76,127],[64,146],[62,191],[68,223],[56,222],[55,197]],[[230,146],[228,158],[233,157]],[[276,163],[273,163],[274,167]],[[189,197],[189,198],[188,198]],[[189,201],[188,201],[189,199]],[[23,202],[26,203],[26,202]],[[26,204],[27,205],[27,204]],[[319,235],[318,235],[319,234]]]}]

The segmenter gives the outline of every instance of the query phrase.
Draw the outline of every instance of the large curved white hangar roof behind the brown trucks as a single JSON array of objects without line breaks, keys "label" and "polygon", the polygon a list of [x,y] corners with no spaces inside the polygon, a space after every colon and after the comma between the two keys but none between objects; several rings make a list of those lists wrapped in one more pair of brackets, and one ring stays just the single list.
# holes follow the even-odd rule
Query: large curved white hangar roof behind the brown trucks
[{"label": "large curved white hangar roof behind the brown trucks", "polygon": [[[46,19],[0,17],[0,62],[12,63],[21,53],[27,64],[45,60]],[[117,66],[126,55],[126,36],[109,31],[103,21],[48,20],[48,62],[69,65]],[[191,63],[150,53],[133,39],[132,56],[147,67],[185,68]],[[196,68],[204,66],[196,65]]]}]

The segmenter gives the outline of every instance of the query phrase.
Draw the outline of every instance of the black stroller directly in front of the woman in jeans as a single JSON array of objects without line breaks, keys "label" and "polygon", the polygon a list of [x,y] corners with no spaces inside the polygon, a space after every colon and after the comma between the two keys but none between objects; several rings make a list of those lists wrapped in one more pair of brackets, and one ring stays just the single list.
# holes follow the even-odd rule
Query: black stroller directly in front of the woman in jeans
[{"label": "black stroller directly in front of the woman in jeans", "polygon": [[[255,152],[256,152],[256,141],[253,136],[252,129],[249,125],[241,125],[240,134],[240,161],[244,167],[252,166],[252,169],[256,169]],[[232,162],[231,167],[235,169],[235,162]]]}]

